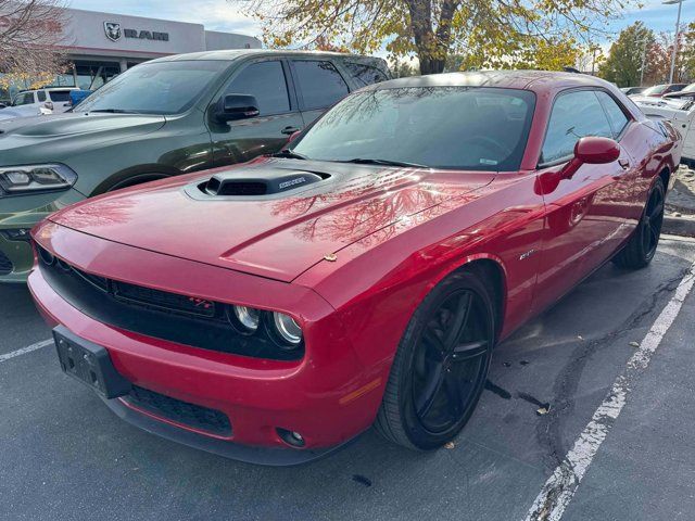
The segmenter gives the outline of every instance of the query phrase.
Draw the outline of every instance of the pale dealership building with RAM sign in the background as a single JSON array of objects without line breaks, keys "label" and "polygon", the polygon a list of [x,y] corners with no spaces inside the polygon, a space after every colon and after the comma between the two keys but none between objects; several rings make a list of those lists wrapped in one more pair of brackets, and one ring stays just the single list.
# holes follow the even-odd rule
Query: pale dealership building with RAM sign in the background
[{"label": "pale dealership building with RAM sign in the background", "polygon": [[[195,9],[195,3],[191,3]],[[230,8],[231,9],[231,8]],[[201,24],[64,9],[61,47],[70,62],[55,84],[94,89],[138,63],[169,54],[255,49],[261,41]]]}]

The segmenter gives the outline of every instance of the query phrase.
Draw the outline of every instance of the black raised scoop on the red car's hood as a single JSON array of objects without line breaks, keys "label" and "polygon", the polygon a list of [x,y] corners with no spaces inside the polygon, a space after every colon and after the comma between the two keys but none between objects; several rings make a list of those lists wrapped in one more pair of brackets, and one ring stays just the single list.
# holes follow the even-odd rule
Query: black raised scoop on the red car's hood
[{"label": "black raised scoop on the red car's hood", "polygon": [[306,170],[248,168],[220,171],[199,187],[212,196],[264,196],[298,190],[327,177]]}]

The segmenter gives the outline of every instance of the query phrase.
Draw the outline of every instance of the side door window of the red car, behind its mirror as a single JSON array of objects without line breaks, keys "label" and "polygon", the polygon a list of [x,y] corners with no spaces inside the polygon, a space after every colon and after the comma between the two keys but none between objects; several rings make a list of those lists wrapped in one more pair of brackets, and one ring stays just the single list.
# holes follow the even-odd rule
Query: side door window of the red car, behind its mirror
[{"label": "side door window of the red car, behind its mirror", "polygon": [[593,90],[579,90],[555,99],[547,124],[541,163],[569,157],[584,136],[612,138],[606,113]]}]

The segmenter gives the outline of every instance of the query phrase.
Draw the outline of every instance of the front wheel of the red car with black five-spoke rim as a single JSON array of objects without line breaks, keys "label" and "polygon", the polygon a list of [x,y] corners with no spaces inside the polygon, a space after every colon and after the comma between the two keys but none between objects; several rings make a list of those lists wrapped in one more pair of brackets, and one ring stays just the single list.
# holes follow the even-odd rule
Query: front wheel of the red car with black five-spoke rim
[{"label": "front wheel of the red car with black five-spoke rim", "polygon": [[417,450],[438,448],[468,422],[482,393],[495,340],[486,281],[460,270],[413,314],[393,360],[375,427]]}]

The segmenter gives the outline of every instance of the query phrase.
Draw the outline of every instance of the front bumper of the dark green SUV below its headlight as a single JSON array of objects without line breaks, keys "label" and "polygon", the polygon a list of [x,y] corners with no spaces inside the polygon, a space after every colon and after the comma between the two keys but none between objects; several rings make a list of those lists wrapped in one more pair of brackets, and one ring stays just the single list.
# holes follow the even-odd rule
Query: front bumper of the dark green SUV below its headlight
[{"label": "front bumper of the dark green SUV below its headlight", "polygon": [[[55,199],[50,201],[50,199]],[[34,264],[28,230],[53,212],[83,201],[77,190],[52,194],[0,198],[0,283],[24,283]],[[22,239],[11,239],[7,232],[24,230]]]}]

